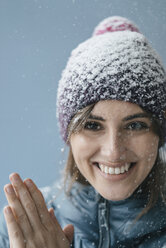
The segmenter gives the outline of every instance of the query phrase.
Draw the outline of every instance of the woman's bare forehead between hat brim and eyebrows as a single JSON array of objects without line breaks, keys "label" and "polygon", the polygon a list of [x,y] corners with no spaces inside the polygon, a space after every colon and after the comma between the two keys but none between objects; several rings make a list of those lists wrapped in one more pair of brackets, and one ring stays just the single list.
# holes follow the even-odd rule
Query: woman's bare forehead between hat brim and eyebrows
[{"label": "woman's bare forehead between hat brim and eyebrows", "polygon": [[137,104],[118,100],[99,101],[92,110],[93,115],[101,116],[106,120],[121,119],[136,113],[145,113],[145,111]]}]

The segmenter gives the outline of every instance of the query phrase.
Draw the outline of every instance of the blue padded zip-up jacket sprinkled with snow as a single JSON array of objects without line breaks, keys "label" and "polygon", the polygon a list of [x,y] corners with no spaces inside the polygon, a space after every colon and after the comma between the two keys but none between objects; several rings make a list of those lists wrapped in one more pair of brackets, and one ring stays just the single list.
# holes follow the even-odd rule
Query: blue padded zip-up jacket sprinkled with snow
[{"label": "blue padded zip-up jacket sprinkled with snow", "polygon": [[[113,202],[80,184],[75,184],[70,197],[57,185],[42,192],[61,226],[74,225],[74,248],[166,248],[166,206],[162,201],[134,224],[147,200],[141,193]],[[9,248],[3,215],[0,248]]]}]

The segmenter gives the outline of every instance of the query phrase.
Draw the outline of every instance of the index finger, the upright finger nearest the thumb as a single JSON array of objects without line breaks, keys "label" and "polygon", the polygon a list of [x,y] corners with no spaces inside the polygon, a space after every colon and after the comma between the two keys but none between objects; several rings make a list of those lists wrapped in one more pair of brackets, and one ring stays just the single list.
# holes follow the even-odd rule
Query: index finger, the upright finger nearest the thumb
[{"label": "index finger, the upright finger nearest the thumb", "polygon": [[31,179],[24,180],[24,183],[27,186],[30,195],[36,205],[36,209],[38,211],[42,224],[48,230],[50,230],[50,228],[52,228],[52,221],[41,191],[37,188],[37,186]]}]

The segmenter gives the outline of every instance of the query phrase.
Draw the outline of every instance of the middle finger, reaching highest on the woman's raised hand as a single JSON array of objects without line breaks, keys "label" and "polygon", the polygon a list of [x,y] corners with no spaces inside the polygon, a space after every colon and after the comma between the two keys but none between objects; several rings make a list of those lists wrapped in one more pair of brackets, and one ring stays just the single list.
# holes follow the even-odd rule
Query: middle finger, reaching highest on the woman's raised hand
[{"label": "middle finger, reaching highest on the woman's raised hand", "polygon": [[[20,176],[17,173],[13,173],[10,175],[10,180],[12,182],[13,188],[16,191],[18,198],[17,200],[20,201],[32,229],[38,230],[41,227],[41,221],[35,206],[35,203],[27,190],[27,187],[24,185],[23,181],[21,180]],[[16,201],[16,200],[15,200]],[[16,209],[17,215],[19,209]]]}]

